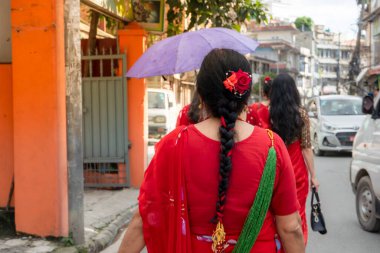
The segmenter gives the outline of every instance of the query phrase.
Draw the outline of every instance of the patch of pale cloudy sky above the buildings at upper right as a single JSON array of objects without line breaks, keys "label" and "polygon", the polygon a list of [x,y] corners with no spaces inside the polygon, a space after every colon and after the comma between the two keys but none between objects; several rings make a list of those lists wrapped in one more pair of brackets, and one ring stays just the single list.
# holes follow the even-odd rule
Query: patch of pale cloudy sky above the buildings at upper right
[{"label": "patch of pale cloudy sky above the buildings at upper right", "polygon": [[[271,0],[272,15],[294,21],[310,17],[314,24],[325,25],[346,39],[356,37],[359,6],[356,0]],[[279,3],[280,2],[280,3]]]}]

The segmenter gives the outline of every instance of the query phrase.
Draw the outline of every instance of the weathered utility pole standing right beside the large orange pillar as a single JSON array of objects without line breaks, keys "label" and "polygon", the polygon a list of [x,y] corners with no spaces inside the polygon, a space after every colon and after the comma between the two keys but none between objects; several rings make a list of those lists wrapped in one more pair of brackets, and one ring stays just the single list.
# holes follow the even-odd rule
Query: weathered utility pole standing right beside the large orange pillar
[{"label": "weathered utility pole standing right beside the large orange pillar", "polygon": [[84,244],[80,0],[64,4],[69,231],[75,244]]}]

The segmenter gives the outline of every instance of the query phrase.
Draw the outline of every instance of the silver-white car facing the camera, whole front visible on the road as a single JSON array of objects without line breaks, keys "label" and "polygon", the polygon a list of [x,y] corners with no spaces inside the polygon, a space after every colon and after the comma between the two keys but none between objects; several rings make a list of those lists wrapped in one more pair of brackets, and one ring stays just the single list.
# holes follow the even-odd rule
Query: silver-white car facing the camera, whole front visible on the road
[{"label": "silver-white car facing the camera, whole front visible on the road", "polygon": [[352,143],[365,115],[362,99],[349,95],[325,95],[309,100],[310,135],[315,155],[325,151],[352,151]]}]

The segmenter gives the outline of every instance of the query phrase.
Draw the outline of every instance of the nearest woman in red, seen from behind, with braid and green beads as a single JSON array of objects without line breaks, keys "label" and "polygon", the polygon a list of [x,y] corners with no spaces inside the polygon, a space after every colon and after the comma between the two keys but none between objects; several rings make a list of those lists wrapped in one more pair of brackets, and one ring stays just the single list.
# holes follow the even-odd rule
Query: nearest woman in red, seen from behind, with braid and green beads
[{"label": "nearest woman in red, seen from behind, with braid and green beads", "polygon": [[139,210],[119,252],[305,252],[294,173],[270,130],[242,120],[250,65],[214,49],[197,76],[209,117],[166,135],[140,189]]}]

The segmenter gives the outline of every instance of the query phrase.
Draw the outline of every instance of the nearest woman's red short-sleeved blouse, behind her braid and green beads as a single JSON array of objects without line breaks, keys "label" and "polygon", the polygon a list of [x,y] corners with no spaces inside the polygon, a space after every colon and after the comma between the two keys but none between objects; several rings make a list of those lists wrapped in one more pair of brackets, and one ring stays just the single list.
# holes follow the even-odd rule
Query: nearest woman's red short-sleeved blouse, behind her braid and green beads
[{"label": "nearest woman's red short-sleeved blouse, behind her braid and green beads", "polygon": [[[203,135],[194,125],[188,127],[189,166],[185,166],[190,231],[196,235],[211,235],[215,224],[218,196],[220,142]],[[232,153],[232,172],[224,209],[224,226],[227,235],[238,237],[255,198],[267,158],[270,139],[259,127],[237,142]],[[276,233],[273,215],[288,215],[298,210],[293,168],[285,145],[275,137],[277,172],[270,212],[253,249],[260,249],[260,241],[274,245]],[[252,250],[254,252],[254,250]],[[270,252],[270,251],[263,251]]]}]

